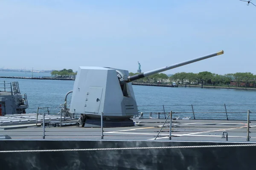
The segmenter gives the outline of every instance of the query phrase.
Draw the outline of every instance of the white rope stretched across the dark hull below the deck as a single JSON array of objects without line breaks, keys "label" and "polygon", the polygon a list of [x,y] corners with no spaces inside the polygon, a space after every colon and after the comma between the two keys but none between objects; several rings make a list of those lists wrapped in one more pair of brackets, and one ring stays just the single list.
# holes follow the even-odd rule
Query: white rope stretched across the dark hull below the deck
[{"label": "white rope stretched across the dark hull below the deck", "polygon": [[56,149],[56,150],[1,150],[0,153],[18,153],[18,152],[66,152],[66,151],[99,151],[99,150],[140,150],[140,149],[183,149],[183,148],[253,147],[253,146],[256,146],[256,144],[229,144],[229,145],[204,145],[204,146],[170,146],[170,147],[121,147],[121,148]]}]

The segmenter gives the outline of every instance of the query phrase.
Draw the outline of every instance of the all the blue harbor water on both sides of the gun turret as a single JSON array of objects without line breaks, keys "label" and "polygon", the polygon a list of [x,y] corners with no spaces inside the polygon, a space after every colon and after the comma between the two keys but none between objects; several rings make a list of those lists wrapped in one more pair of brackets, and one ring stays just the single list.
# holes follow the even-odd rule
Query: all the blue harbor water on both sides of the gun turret
[{"label": "all the blue harbor water on both sides of the gun turret", "polygon": [[[38,73],[38,75],[42,74]],[[74,81],[67,80],[0,79],[0,81],[19,82],[21,93],[27,94],[29,113],[36,111],[37,107],[49,107],[52,112],[58,112],[57,108],[64,104],[65,95],[73,90],[74,85]],[[139,112],[154,113],[165,110],[165,112],[180,112],[174,116],[181,117],[194,118],[195,114],[196,119],[227,119],[227,116],[229,119],[247,119],[249,109],[253,112],[251,119],[256,119],[256,91],[140,85],[133,85],[133,88]],[[68,98],[68,105],[70,99],[71,95]]]}]

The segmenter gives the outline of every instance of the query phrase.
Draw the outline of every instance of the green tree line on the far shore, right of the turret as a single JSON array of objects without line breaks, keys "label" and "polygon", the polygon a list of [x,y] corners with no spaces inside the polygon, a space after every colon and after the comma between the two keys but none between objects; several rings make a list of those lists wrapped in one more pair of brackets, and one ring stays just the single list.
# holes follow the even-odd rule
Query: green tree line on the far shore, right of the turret
[{"label": "green tree line on the far shore, right of the turret", "polygon": [[[130,76],[138,74],[138,73],[129,73]],[[256,75],[253,75],[250,72],[237,72],[234,74],[215,74],[209,71],[203,71],[199,73],[186,73],[180,72],[175,73],[172,76],[168,77],[166,74],[154,74],[148,77],[144,77],[143,79],[137,80],[137,82],[164,82],[169,79],[171,82],[180,82],[181,84],[194,84],[203,83],[204,85],[229,85],[231,80],[236,82],[236,86],[241,86],[240,84],[244,82],[245,87],[248,87],[250,83],[253,83],[256,86]]]}]

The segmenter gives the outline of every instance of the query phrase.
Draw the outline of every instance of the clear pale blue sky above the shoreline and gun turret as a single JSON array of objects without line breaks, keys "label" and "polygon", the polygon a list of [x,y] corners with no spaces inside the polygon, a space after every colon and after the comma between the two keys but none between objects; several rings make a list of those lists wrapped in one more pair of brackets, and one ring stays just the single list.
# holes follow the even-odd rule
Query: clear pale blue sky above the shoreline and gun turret
[{"label": "clear pale blue sky above the shoreline and gun turret", "polygon": [[[256,0],[252,0],[256,4]],[[0,68],[256,74],[256,6],[240,0],[1,0]]]}]

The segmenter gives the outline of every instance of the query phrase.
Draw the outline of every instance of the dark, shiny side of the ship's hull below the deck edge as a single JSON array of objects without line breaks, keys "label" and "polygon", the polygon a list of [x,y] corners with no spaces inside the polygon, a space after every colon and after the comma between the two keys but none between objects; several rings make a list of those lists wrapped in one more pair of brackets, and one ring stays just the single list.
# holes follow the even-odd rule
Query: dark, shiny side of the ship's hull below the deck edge
[{"label": "dark, shiny side of the ship's hull below the deck edge", "polygon": [[[243,144],[231,142],[6,140],[0,150],[47,150]],[[244,143],[246,144],[246,143]],[[248,143],[247,143],[248,144]],[[256,147],[1,153],[1,169],[235,170],[254,167]]]}]

